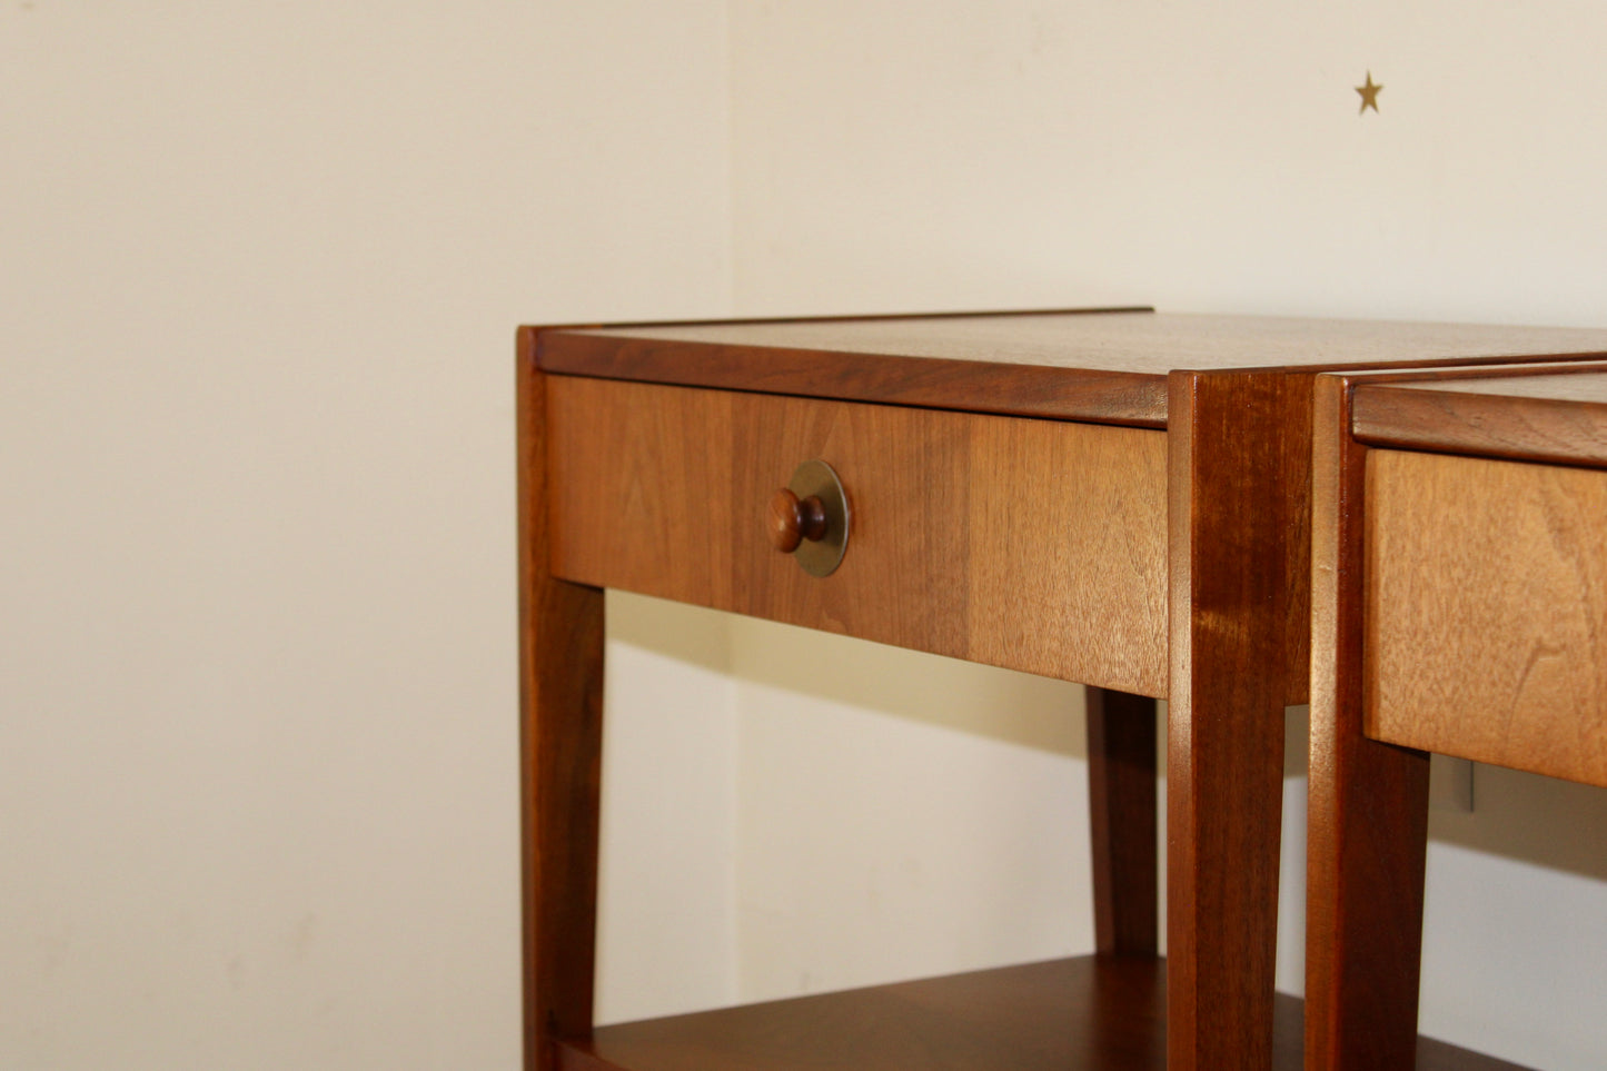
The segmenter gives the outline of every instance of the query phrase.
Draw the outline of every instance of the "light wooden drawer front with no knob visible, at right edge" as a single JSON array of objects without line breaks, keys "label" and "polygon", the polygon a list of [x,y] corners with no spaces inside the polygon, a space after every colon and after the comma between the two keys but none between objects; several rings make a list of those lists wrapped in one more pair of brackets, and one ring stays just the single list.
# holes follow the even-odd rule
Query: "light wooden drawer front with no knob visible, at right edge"
[{"label": "light wooden drawer front with no knob visible, at right edge", "polygon": [[1607,473],[1366,465],[1366,733],[1607,785]]}]

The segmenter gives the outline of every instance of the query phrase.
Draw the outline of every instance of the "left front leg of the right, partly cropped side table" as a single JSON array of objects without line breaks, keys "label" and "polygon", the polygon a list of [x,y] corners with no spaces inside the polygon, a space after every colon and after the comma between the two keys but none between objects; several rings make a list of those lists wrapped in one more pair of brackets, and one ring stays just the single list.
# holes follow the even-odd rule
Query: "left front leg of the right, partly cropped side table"
[{"label": "left front leg of the right, partly cropped side table", "polygon": [[1311,474],[1306,1068],[1409,1068],[1429,757],[1363,735],[1363,473],[1350,381],[1319,376]]}]

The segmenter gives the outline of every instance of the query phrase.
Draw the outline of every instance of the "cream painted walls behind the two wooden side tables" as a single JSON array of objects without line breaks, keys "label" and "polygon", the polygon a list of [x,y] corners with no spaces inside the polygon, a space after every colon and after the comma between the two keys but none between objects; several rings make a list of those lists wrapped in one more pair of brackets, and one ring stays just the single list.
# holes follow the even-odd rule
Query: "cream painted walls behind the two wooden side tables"
[{"label": "cream painted walls behind the two wooden side tables", "polygon": [[[5,3],[0,1063],[514,1066],[514,323],[1599,325],[1604,43],[1552,0]],[[1091,944],[1075,688],[609,613],[603,1018]],[[1425,1024],[1599,1066],[1607,806],[1478,791]]]}]

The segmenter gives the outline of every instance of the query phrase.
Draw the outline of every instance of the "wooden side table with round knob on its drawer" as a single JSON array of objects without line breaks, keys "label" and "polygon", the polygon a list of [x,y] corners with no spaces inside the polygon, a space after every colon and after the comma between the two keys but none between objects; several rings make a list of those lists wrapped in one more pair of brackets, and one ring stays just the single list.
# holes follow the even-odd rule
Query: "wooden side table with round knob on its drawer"
[{"label": "wooden side table with round knob on its drawer", "polygon": [[[529,1066],[1271,1066],[1315,375],[1604,351],[1139,310],[524,330]],[[852,507],[829,576],[767,537],[812,458]],[[595,1031],[606,587],[1093,685],[1101,954]],[[1146,696],[1170,700],[1165,965]]]}]

